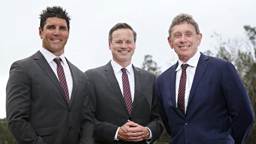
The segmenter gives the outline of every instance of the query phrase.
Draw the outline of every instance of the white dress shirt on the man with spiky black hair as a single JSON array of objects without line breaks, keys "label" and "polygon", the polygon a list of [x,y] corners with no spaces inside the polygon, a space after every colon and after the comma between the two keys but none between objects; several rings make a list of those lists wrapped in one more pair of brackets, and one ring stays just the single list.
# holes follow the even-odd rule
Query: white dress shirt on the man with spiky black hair
[{"label": "white dress shirt on the man with spiky black hair", "polygon": [[[55,59],[57,56],[52,54],[51,52],[49,52],[45,48],[41,48],[40,52],[45,57],[46,61],[48,62],[48,64],[52,68],[56,77],[59,79],[58,73],[57,73],[57,64],[55,63],[55,61],[53,61],[53,59]],[[70,72],[70,69],[69,69],[69,65],[68,65],[68,63],[65,59],[65,54],[63,53],[62,55],[59,56],[59,58],[61,58],[61,66],[63,67],[64,74],[65,74],[66,81],[67,81],[67,86],[68,86],[68,90],[69,90],[69,100],[71,100],[71,93],[72,93],[72,89],[73,89],[73,79],[72,79],[72,76],[71,76],[71,72]]]}]

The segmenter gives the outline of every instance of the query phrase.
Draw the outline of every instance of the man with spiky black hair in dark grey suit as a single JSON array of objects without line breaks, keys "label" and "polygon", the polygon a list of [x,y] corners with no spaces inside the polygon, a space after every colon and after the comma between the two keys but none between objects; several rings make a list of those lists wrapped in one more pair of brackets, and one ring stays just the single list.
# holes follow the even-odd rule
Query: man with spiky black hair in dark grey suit
[{"label": "man with spiky black hair in dark grey suit", "polygon": [[85,74],[64,55],[70,17],[54,6],[40,18],[42,48],[11,65],[8,128],[19,144],[93,144]]}]

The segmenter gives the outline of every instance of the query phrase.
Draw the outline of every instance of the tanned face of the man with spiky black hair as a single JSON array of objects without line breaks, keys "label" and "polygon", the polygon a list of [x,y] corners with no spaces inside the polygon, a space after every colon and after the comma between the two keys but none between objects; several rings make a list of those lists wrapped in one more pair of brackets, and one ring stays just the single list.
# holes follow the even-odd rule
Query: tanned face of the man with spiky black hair
[{"label": "tanned face of the man with spiky black hair", "polygon": [[43,40],[43,48],[59,56],[64,53],[64,46],[69,39],[67,22],[63,18],[47,18],[43,30],[39,27],[39,35]]}]

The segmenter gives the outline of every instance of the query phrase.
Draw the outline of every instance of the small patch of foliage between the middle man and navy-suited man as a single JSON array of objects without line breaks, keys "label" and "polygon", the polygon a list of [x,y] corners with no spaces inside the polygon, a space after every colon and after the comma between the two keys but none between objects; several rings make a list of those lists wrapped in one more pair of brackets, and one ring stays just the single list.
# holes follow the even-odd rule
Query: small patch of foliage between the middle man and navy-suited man
[{"label": "small patch of foliage between the middle man and navy-suited man", "polygon": [[157,63],[152,60],[152,55],[145,55],[144,61],[141,66],[144,70],[147,70],[148,72],[151,72],[155,74],[156,76],[159,76],[161,74],[160,68],[157,66]]}]

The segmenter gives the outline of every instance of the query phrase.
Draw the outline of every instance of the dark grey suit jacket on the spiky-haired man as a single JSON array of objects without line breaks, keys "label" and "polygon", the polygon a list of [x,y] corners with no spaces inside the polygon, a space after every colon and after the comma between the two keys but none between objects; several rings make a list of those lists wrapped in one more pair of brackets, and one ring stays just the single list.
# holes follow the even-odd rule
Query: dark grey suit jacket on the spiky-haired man
[{"label": "dark grey suit jacket on the spiky-haired man", "polygon": [[6,87],[8,128],[19,144],[91,144],[93,118],[85,75],[67,61],[73,90],[64,90],[41,52],[14,62]]}]

